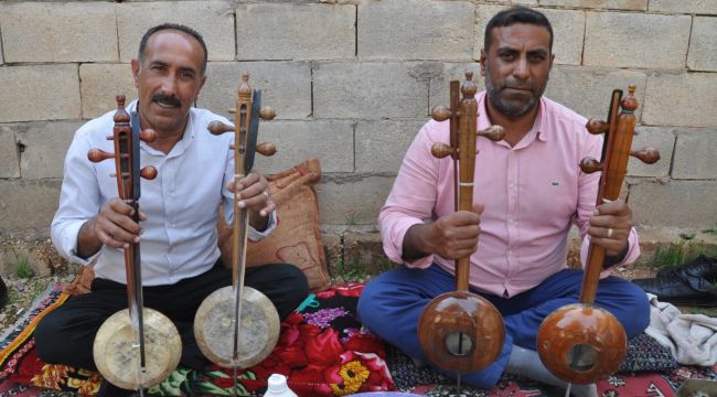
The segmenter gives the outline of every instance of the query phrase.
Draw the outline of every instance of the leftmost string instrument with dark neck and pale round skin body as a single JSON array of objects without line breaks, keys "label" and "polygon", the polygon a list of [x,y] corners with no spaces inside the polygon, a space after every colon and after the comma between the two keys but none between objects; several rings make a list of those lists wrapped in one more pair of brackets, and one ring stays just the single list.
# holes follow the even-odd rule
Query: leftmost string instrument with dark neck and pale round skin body
[{"label": "leftmost string instrument with dark neck and pale round skin body", "polygon": [[[118,95],[115,128],[107,137],[115,142],[115,153],[92,149],[92,162],[115,159],[119,197],[135,208],[139,223],[140,176],[153,180],[157,169],[139,167],[139,141],[152,142],[152,129],[132,130],[125,110],[125,96]],[[139,124],[137,124],[139,125]],[[109,316],[97,331],[93,355],[97,369],[111,384],[125,389],[154,386],[168,377],[182,355],[182,340],[172,321],[157,310],[145,308],[139,243],[125,248],[128,309]]]}]

